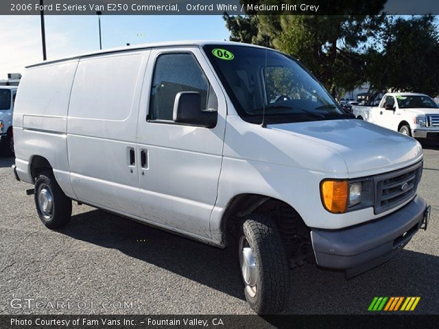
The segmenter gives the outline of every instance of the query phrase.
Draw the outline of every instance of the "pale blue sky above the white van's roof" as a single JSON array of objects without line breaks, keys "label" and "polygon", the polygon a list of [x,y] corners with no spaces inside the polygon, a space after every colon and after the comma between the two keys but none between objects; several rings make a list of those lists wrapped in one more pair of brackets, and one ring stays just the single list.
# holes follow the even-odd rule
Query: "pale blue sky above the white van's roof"
[{"label": "pale blue sky above the white van's roof", "polygon": [[[102,47],[188,39],[228,39],[221,16],[101,16]],[[97,16],[45,16],[47,58],[99,49]],[[43,60],[40,16],[0,16],[0,79]]]}]

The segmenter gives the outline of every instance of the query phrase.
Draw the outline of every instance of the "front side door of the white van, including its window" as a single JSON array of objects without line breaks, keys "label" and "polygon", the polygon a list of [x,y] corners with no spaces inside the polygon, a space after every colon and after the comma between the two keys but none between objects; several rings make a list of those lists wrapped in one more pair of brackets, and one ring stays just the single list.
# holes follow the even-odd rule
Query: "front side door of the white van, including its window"
[{"label": "front side door of the white van, including its window", "polygon": [[[145,219],[209,240],[226,127],[222,88],[198,47],[152,50],[143,85],[137,146]],[[183,91],[200,93],[202,109],[217,112],[215,127],[173,121]]]}]

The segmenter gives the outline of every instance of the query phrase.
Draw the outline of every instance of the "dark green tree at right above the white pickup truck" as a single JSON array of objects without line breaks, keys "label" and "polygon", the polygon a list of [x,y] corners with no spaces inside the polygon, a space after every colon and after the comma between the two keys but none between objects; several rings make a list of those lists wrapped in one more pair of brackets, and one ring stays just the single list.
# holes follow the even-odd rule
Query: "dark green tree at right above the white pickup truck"
[{"label": "dark green tree at right above the white pickup truck", "polygon": [[439,35],[434,16],[388,19],[365,58],[372,90],[439,95]]}]

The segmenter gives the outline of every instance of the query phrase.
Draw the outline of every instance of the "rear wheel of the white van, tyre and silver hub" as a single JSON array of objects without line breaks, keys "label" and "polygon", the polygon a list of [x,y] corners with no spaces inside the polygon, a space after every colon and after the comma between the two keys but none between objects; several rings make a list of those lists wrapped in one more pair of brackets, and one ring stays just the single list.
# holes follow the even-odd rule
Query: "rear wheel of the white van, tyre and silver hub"
[{"label": "rear wheel of the white van, tyre and silver hub", "polygon": [[35,180],[36,211],[47,228],[62,228],[70,221],[71,199],[62,192],[54,173],[43,171]]}]

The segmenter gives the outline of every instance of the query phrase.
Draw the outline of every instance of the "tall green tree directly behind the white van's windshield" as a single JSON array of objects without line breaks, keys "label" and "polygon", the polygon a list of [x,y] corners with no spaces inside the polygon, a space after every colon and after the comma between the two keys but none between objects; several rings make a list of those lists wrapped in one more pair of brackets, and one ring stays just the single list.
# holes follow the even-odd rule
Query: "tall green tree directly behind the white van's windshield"
[{"label": "tall green tree directly behind the white van's windshield", "polygon": [[[288,1],[299,4],[300,1]],[[344,90],[351,90],[364,83],[364,56],[361,50],[377,29],[381,28],[385,16],[365,15],[378,13],[385,0],[351,1],[351,12],[360,14],[300,16],[300,15],[259,15],[230,17],[226,22],[235,28],[230,40],[265,45],[279,49],[300,60],[316,77],[337,96]],[[261,0],[260,3],[270,3]],[[342,8],[345,1],[322,1],[329,8]],[[338,10],[337,10],[338,11]],[[236,19],[235,22],[233,20]],[[243,19],[252,21],[252,29],[239,25]],[[240,38],[236,28],[244,27],[247,36]],[[252,38],[248,38],[252,35]],[[263,42],[264,36],[268,42]]]}]

